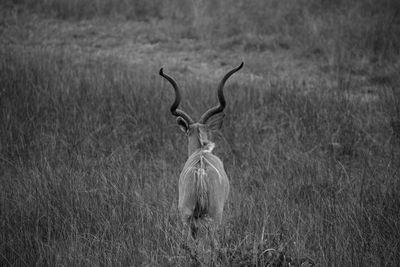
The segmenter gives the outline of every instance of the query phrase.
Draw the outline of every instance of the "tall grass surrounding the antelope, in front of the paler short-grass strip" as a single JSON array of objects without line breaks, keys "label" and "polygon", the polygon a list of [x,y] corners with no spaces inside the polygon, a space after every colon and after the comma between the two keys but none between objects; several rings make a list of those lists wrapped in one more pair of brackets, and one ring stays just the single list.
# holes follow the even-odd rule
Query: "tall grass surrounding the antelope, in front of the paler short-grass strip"
[{"label": "tall grass surrounding the antelope, in front of the paler short-grass strip", "polygon": [[[185,265],[186,143],[157,70],[48,51],[0,58],[2,265]],[[215,102],[188,84],[184,107]],[[226,89],[216,153],[232,192],[219,263],[257,264],[270,247],[322,266],[396,265],[390,94],[363,102],[285,81]]]}]

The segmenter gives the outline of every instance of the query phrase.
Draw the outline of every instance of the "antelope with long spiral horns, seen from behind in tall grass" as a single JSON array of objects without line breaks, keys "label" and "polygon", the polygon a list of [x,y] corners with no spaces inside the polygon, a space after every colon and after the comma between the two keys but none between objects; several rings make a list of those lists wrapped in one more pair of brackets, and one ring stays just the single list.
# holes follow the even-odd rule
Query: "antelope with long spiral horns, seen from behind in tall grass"
[{"label": "antelope with long spiral horns, seen from behind in tall grass", "polygon": [[179,176],[178,210],[183,224],[189,226],[188,236],[190,232],[193,239],[196,239],[201,223],[212,221],[214,225],[220,225],[222,221],[224,204],[229,194],[229,179],[222,161],[212,153],[215,144],[209,140],[209,135],[222,126],[226,106],[223,92],[225,82],[243,64],[225,74],[217,91],[219,104],[207,110],[198,122],[178,109],[181,94],[177,83],[164,74],[163,68],[159,72],[175,91],[175,101],[170,111],[177,117],[176,122],[188,140],[188,159]]}]

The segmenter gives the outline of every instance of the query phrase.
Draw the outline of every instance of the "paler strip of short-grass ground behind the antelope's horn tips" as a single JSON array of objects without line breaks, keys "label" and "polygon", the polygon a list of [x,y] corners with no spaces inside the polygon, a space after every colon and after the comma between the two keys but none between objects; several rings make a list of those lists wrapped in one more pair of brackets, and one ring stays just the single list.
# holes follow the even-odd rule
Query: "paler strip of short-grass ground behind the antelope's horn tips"
[{"label": "paler strip of short-grass ground behind the antelope's horn tips", "polygon": [[[82,64],[113,60],[154,69],[176,77],[217,82],[227,69],[244,61],[238,73],[242,83],[265,84],[274,79],[321,84],[331,77],[321,70],[318,52],[305,55],[273,36],[239,36],[224,40],[200,40],[171,29],[168,21],[93,19],[68,21],[29,15],[8,17],[1,25],[2,45],[25,51],[43,49],[67,53]],[[314,55],[313,55],[314,54]],[[327,83],[327,82],[326,82]]]}]

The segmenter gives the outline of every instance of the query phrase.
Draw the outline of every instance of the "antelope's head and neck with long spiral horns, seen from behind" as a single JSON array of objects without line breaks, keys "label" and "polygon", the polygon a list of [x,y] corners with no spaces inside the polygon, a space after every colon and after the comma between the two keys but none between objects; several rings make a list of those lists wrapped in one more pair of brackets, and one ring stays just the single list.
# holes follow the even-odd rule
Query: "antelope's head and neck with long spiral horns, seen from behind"
[{"label": "antelope's head and neck with long spiral horns, seen from behind", "polygon": [[243,62],[237,66],[236,68],[229,71],[222,78],[219,86],[218,86],[218,100],[219,104],[215,107],[207,110],[201,117],[198,122],[195,122],[186,112],[181,109],[178,109],[179,104],[181,102],[181,94],[179,87],[175,80],[170,76],[164,74],[163,69],[160,69],[160,75],[164,77],[168,82],[171,83],[172,87],[175,91],[175,101],[172,103],[170,108],[172,115],[176,116],[176,122],[179,127],[188,137],[188,152],[189,156],[199,148],[203,148],[212,151],[214,148],[214,143],[209,140],[209,134],[213,131],[219,130],[222,126],[222,121],[225,116],[223,113],[224,108],[226,106],[226,101],[224,97],[224,85],[225,82],[229,79],[232,74],[237,72],[243,67]]}]

